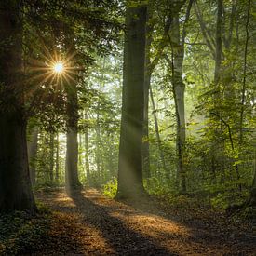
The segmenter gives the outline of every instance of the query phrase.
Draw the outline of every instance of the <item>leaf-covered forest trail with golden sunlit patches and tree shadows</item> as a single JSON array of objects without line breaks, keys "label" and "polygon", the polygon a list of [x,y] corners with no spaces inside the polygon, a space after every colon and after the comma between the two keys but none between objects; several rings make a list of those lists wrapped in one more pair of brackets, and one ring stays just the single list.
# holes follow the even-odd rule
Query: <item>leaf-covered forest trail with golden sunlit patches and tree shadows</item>
[{"label": "leaf-covered forest trail with golden sunlit patches and tree shadows", "polygon": [[72,199],[63,192],[38,198],[56,217],[40,255],[256,255],[255,236],[188,226],[156,206],[141,202],[138,209],[94,189]]}]

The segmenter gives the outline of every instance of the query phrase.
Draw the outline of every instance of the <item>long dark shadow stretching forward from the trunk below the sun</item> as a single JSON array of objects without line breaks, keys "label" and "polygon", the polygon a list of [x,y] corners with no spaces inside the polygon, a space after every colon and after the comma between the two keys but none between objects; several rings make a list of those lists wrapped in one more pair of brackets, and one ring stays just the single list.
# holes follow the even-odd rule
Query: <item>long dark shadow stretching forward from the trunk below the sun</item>
[{"label": "long dark shadow stretching forward from the trunk below the sun", "polygon": [[178,255],[155,244],[150,236],[142,236],[125,222],[111,216],[110,207],[97,205],[80,192],[75,192],[71,197],[82,213],[83,222],[100,230],[117,255]]}]

